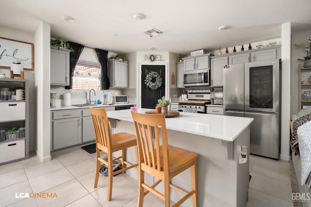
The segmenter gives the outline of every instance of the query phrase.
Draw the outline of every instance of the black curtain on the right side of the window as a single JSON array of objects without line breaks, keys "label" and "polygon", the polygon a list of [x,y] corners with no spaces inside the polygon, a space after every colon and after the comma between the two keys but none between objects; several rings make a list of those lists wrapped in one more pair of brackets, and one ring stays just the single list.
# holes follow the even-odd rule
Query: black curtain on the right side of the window
[{"label": "black curtain on the right side of the window", "polygon": [[95,48],[98,61],[102,65],[102,82],[101,82],[101,88],[102,90],[107,90],[109,89],[109,79],[108,79],[108,65],[107,65],[107,60],[108,60],[108,51],[103,50],[103,49],[98,49]]}]

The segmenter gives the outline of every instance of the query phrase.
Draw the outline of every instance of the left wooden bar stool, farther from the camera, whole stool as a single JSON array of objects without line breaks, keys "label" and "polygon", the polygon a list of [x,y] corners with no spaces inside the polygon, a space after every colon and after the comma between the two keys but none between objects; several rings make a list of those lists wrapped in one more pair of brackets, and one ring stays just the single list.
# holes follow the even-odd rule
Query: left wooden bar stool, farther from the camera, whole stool
[{"label": "left wooden bar stool, farther from the camera, whole stool", "polygon": [[[107,166],[108,167],[107,201],[110,201],[112,194],[113,175],[117,175],[121,172],[125,173],[126,170],[138,166],[138,164],[131,164],[127,162],[125,159],[125,149],[132,146],[137,146],[137,141],[135,136],[126,134],[124,132],[111,135],[106,110],[96,108],[89,108],[89,109],[91,111],[96,136],[96,173],[95,173],[94,188],[97,188],[100,168],[103,167],[104,165]],[[107,161],[101,158],[100,150],[107,153],[108,158]],[[118,158],[114,158],[112,156],[112,153],[120,150],[121,156]],[[121,159],[122,169],[113,172],[113,161],[117,159]],[[127,165],[127,167],[125,167],[125,165]]]}]

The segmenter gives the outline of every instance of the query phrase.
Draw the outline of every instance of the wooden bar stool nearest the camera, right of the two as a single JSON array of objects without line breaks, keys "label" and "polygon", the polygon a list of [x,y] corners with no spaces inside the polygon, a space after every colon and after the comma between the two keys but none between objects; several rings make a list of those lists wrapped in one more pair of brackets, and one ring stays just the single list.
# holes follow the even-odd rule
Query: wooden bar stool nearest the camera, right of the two
[{"label": "wooden bar stool nearest the camera, right of the two", "polygon": [[[173,207],[180,206],[190,197],[192,197],[193,207],[197,207],[198,154],[168,145],[163,114],[142,114],[133,111],[131,113],[138,143],[138,207],[143,206],[144,196],[149,191],[163,199],[165,207],[170,207],[170,188],[185,195]],[[160,134],[162,145],[160,145]],[[192,190],[190,192],[186,192],[170,183],[171,178],[188,168],[190,168],[191,172]],[[158,180],[152,186],[147,185],[144,183],[144,172],[157,177]],[[164,183],[164,194],[155,190],[155,186],[161,181]]]}]

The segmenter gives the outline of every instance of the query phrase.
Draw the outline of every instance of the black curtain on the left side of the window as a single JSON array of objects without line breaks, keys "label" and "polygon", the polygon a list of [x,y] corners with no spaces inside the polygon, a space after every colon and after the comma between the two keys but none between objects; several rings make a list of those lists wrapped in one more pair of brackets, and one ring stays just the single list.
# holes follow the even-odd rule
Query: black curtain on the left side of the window
[{"label": "black curtain on the left side of the window", "polygon": [[72,89],[72,77],[73,77],[73,71],[76,67],[76,64],[79,60],[79,57],[82,53],[82,50],[84,48],[83,45],[80,45],[78,43],[74,42],[68,42],[69,45],[73,48],[74,52],[70,52],[70,61],[69,61],[69,85],[65,86],[65,89]]}]

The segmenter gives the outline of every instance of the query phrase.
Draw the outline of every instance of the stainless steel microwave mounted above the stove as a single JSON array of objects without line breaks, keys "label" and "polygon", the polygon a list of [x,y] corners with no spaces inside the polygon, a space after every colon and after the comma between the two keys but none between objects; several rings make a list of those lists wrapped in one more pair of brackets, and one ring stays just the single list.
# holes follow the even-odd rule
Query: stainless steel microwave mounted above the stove
[{"label": "stainless steel microwave mounted above the stove", "polygon": [[209,70],[184,71],[184,86],[209,85]]}]

